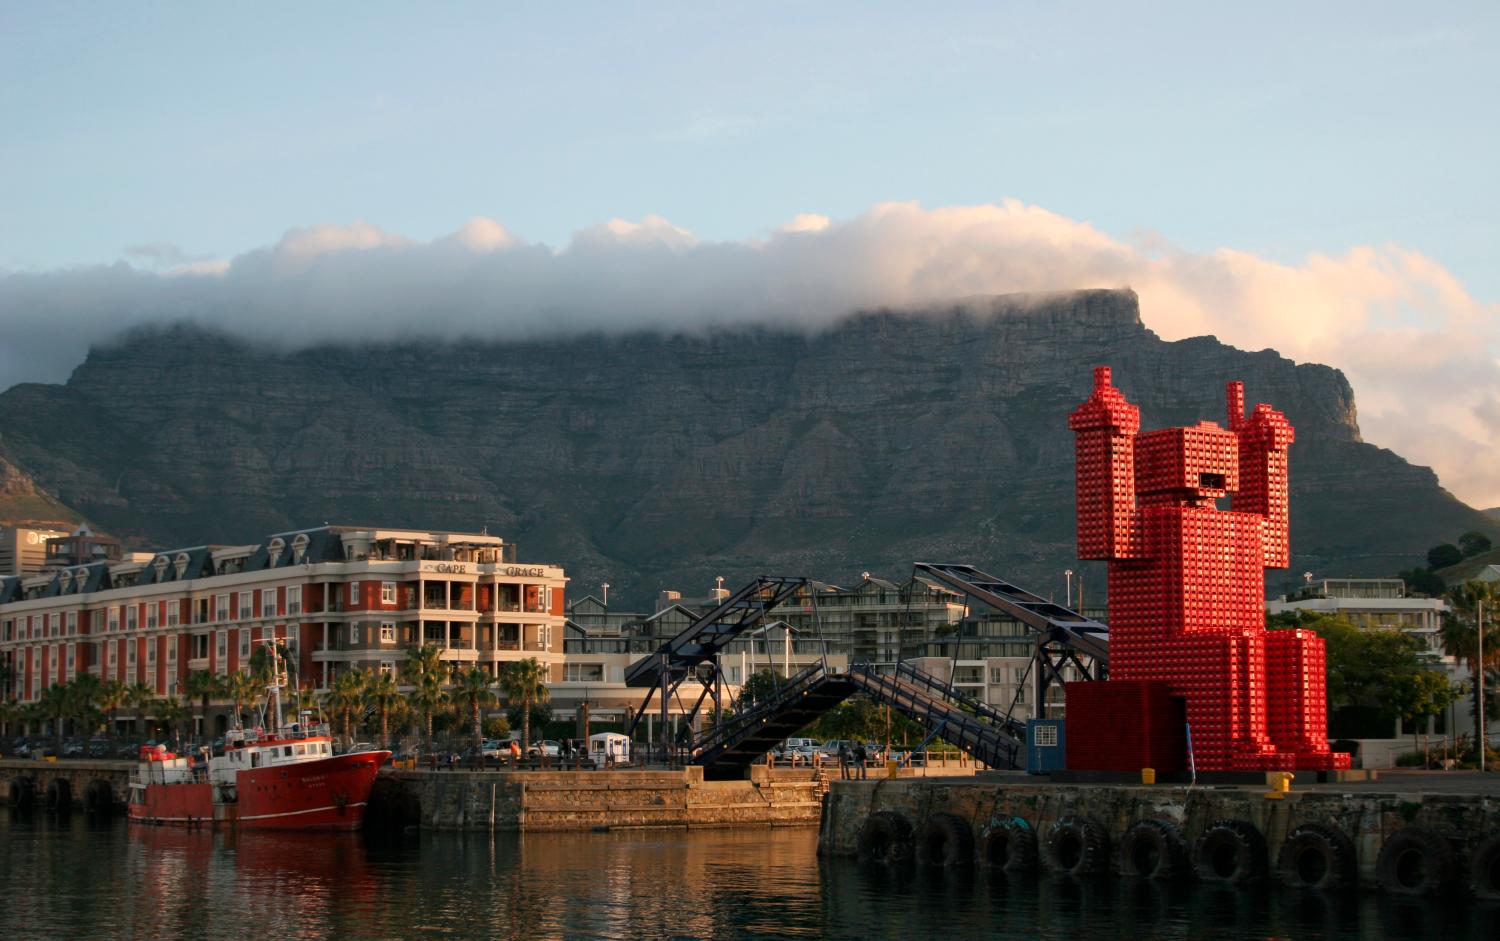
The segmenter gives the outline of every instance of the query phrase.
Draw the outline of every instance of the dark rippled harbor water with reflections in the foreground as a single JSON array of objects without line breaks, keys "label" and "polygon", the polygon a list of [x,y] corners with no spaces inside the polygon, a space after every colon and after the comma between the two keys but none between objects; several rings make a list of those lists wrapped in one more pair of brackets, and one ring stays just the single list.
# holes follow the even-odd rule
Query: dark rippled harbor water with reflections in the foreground
[{"label": "dark rippled harbor water with reflections in the foreground", "polygon": [[6,938],[1494,938],[1464,899],[886,870],[813,830],[202,833],[0,813]]}]

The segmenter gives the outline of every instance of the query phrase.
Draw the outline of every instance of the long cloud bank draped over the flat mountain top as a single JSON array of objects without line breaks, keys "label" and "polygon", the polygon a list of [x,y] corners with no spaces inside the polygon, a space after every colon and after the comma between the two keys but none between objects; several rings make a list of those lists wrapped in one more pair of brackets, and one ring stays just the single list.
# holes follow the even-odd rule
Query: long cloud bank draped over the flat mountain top
[{"label": "long cloud bank draped over the flat mountain top", "polygon": [[134,248],[132,258],[171,267],[0,278],[0,387],[57,381],[88,344],[160,320],[279,344],[741,323],[816,329],[861,308],[1128,285],[1146,324],[1167,339],[1212,333],[1344,369],[1368,440],[1431,464],[1458,495],[1500,506],[1500,306],[1396,245],[1298,263],[1227,248],[1185,252],[1156,234],[1122,240],[1011,200],[884,203],[846,221],[807,213],[742,242],[700,242],[646,216],[585,228],[555,251],[476,218],[430,242],[369,222],[298,228],[230,261]]}]

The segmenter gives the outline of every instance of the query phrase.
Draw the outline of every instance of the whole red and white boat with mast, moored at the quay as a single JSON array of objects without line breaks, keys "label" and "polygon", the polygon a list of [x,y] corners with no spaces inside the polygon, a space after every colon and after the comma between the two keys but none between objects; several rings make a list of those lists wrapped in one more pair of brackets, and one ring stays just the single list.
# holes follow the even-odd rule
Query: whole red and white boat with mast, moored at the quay
[{"label": "whole red and white boat with mast, moored at the quay", "polygon": [[231,729],[222,756],[195,762],[165,746],[142,747],[130,779],[130,819],[176,827],[357,830],[390,752],[334,755],[322,726],[300,722],[282,729],[280,683],[273,681],[267,692],[270,729]]}]

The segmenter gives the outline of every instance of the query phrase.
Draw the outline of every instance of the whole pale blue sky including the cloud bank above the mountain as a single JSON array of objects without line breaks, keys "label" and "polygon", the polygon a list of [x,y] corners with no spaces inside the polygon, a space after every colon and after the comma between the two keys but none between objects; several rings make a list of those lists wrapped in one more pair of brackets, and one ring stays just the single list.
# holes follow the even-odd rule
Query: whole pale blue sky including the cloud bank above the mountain
[{"label": "whole pale blue sky including the cloud bank above the mountain", "polygon": [[[1306,8],[1306,9],[1304,9]],[[0,2],[0,387],[1134,287],[1500,506],[1496,3]],[[1251,390],[1252,395],[1252,390]]]}]

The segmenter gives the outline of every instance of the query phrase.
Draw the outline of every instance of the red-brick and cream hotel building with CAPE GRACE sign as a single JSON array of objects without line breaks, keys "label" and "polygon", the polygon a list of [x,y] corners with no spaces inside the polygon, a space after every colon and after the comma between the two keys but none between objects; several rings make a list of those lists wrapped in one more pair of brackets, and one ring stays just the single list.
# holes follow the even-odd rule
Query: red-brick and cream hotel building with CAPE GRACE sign
[{"label": "red-brick and cream hotel building with CAPE GRACE sign", "polygon": [[81,672],[180,695],[189,672],[244,669],[276,638],[303,684],[346,669],[394,671],[405,650],[494,674],[507,660],[562,662],[558,566],[472,533],[326,525],[258,545],[135,552],[0,578],[0,698],[34,701]]}]

